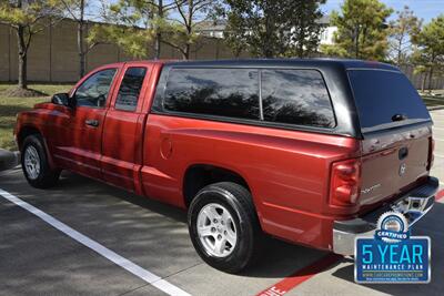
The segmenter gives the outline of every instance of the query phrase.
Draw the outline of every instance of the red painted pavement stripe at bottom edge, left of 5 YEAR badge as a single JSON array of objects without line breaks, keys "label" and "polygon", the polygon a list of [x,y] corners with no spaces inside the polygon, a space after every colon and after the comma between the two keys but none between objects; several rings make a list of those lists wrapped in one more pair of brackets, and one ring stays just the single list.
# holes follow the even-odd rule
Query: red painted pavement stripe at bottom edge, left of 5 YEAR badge
[{"label": "red painted pavement stripe at bottom edge, left of 5 YEAR badge", "polygon": [[280,296],[284,295],[291,289],[295,288],[296,286],[301,285],[305,280],[312,278],[319,273],[324,272],[326,268],[332,266],[333,264],[337,263],[343,258],[340,255],[329,254],[321,259],[312,263],[311,265],[299,269],[294,274],[285,277],[278,284],[268,289],[262,290],[258,294],[258,296]]}]

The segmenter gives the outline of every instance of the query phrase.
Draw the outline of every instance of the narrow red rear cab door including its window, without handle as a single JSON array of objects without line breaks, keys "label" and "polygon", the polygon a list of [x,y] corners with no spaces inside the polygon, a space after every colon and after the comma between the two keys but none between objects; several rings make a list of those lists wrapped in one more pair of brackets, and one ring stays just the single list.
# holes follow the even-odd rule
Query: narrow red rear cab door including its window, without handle
[{"label": "narrow red rear cab door including its window, without handle", "polygon": [[107,182],[135,191],[142,163],[142,112],[147,96],[149,63],[125,64],[117,83],[103,125],[102,174]]}]

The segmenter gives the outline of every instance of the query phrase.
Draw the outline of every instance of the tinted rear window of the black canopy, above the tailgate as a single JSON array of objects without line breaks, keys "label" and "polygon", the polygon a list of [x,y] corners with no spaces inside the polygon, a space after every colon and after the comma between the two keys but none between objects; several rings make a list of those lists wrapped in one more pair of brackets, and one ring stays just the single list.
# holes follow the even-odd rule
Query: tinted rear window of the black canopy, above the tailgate
[{"label": "tinted rear window of the black canopy, above the tailgate", "polygon": [[430,120],[408,79],[401,72],[349,70],[363,133]]}]

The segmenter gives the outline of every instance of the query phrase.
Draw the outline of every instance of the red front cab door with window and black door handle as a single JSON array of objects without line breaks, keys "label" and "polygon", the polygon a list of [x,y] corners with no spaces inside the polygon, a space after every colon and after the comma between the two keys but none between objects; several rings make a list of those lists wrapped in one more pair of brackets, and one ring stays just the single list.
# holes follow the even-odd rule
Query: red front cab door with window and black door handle
[{"label": "red front cab door with window and black door handle", "polygon": [[119,65],[101,68],[81,80],[71,92],[75,105],[54,147],[62,166],[101,178],[102,132],[107,108],[112,98]]}]

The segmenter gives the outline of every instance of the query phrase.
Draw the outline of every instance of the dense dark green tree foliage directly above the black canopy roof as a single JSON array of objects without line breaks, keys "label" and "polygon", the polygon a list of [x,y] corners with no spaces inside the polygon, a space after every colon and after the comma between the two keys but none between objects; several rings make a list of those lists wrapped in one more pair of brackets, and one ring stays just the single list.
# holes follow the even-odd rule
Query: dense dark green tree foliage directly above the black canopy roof
[{"label": "dense dark green tree foliage directly above the black canopy roof", "polygon": [[324,0],[226,0],[225,42],[235,55],[305,57],[317,49]]}]

